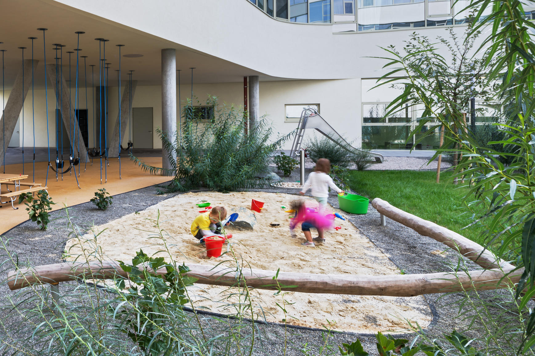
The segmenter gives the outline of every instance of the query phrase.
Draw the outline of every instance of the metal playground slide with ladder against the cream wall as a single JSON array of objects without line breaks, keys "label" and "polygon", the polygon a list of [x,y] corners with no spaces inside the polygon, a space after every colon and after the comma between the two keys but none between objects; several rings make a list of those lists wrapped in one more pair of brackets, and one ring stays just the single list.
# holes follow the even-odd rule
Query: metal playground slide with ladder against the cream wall
[{"label": "metal playground slide with ladder against the cream wall", "polygon": [[[295,133],[292,151],[290,151],[290,157],[292,158],[297,156],[299,150],[301,149],[301,143],[303,142],[305,129],[316,129],[322,133],[323,136],[330,139],[348,152],[368,152],[351,146],[342,136],[339,135],[338,132],[334,131],[331,125],[329,125],[315,109],[307,108],[302,111],[301,118],[299,119],[299,125],[297,125],[297,132]],[[383,163],[383,155],[373,152],[368,153],[375,157],[377,162]]]}]

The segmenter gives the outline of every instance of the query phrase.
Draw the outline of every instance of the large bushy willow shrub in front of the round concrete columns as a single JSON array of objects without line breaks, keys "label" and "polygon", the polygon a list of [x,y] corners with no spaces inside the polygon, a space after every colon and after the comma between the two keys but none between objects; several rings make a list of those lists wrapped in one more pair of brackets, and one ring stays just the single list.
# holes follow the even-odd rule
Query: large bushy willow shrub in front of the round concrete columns
[{"label": "large bushy willow shrub in front of the round concrete columns", "polygon": [[247,116],[240,108],[219,106],[213,97],[210,104],[213,110],[203,112],[189,102],[182,112],[181,131],[172,138],[157,129],[170,169],[153,167],[134,156],[131,159],[153,174],[174,176],[166,187],[169,192],[200,187],[228,192],[267,183],[258,176],[268,169],[271,156],[291,133],[271,141],[273,129],[264,116],[246,133]]}]

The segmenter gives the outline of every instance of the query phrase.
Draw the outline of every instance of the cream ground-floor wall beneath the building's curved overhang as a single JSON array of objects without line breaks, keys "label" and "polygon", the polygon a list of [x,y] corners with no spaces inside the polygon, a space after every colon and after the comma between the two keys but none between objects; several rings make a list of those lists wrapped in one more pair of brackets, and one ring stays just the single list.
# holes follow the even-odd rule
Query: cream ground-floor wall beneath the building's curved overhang
[{"label": "cream ground-floor wall beneath the building's curved overhang", "polygon": [[[121,87],[121,94],[124,87]],[[85,88],[80,89],[80,109],[86,109]],[[209,95],[217,96],[219,104],[227,104],[243,107],[243,83],[218,83],[218,84],[195,84],[194,105],[204,105]],[[6,91],[6,100],[9,91]],[[183,108],[187,99],[191,96],[190,86],[182,85],[180,88],[180,108]],[[108,132],[111,134],[113,125],[118,114],[117,86],[108,89]],[[88,121],[89,143],[93,148],[93,105],[91,105],[92,93],[88,89]],[[1,100],[1,97],[0,97]],[[198,102],[197,102],[198,100]],[[73,90],[74,102],[74,90]],[[156,128],[162,125],[160,86],[137,86],[133,107],[153,108],[153,142],[154,148],[161,148],[162,142],[158,139]],[[178,102],[178,88],[177,88]],[[311,80],[311,81],[273,81],[260,83],[260,114],[266,115],[274,125],[274,131],[281,135],[294,130],[297,123],[285,123],[285,104],[320,104],[320,113],[340,135],[360,143],[361,139],[361,80]],[[25,102],[25,127],[24,135],[26,147],[33,145],[32,125],[32,91],[28,93]],[[55,147],[55,109],[56,98],[52,91],[48,92],[49,113],[49,140],[50,147]],[[177,108],[178,110],[178,108]],[[178,115],[177,115],[178,116]],[[19,119],[20,120],[20,119]],[[95,118],[98,124],[98,117]],[[0,123],[1,129],[1,123]],[[135,128],[134,128],[135,129]],[[128,132],[128,127],[126,129]],[[1,134],[1,133],[0,133]],[[22,140],[20,140],[22,143]],[[123,147],[128,142],[128,134],[122,137]],[[305,139],[306,141],[306,139]],[[44,90],[35,91],[35,145],[36,147],[47,146],[47,119],[45,114]],[[98,142],[97,142],[98,145]],[[134,143],[135,145],[135,143]],[[285,148],[290,148],[292,142],[288,142]]]}]

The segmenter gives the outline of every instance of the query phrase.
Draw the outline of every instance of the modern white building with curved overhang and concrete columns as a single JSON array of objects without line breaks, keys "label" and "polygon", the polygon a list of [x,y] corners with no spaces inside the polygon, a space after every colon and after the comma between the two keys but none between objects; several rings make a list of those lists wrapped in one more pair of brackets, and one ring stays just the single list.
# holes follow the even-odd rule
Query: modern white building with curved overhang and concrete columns
[{"label": "modern white building with curved overhang and concrete columns", "polygon": [[[415,30],[430,38],[446,36],[445,27],[461,34],[468,4],[467,0],[3,1],[0,50],[5,50],[6,118],[0,123],[0,139],[11,147],[30,147],[35,139],[37,147],[55,148],[68,146],[68,132],[74,132],[92,149],[98,147],[98,132],[104,132],[110,142],[118,143],[116,126],[123,100],[123,116],[129,116],[125,111],[130,104],[133,107],[132,121],[126,117],[121,123],[123,147],[131,140],[136,148],[161,148],[156,128],[175,128],[181,108],[193,95],[194,105],[206,113],[208,96],[236,106],[247,100],[249,115],[268,116],[281,134],[294,130],[301,110],[310,106],[355,146],[410,148],[405,141],[417,123],[417,110],[382,119],[397,92],[371,89],[385,73],[385,61],[374,57],[384,56],[379,46],[401,46]],[[17,110],[23,99],[24,109]],[[62,118],[56,115],[62,107],[67,112],[77,110],[80,119],[65,118],[63,133]],[[107,113],[101,126],[98,110]],[[70,123],[78,124],[80,131]],[[430,139],[418,148],[435,146]]]}]

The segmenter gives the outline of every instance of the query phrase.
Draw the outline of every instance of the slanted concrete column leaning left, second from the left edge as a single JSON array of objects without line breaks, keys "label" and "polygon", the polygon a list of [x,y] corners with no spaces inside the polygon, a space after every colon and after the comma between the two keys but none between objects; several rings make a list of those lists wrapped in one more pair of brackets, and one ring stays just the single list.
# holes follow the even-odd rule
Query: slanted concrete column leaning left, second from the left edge
[{"label": "slanted concrete column leaning left, second from the left edge", "polygon": [[[59,82],[59,78],[58,82],[56,82],[56,65],[47,64],[45,67],[47,68],[48,79],[50,83],[52,83],[52,89],[54,91],[54,94],[57,95],[58,98],[60,98],[62,88],[61,86],[63,85],[63,107],[60,108],[62,112],[63,124],[67,129],[67,136],[73,148],[73,158],[75,159],[77,157],[80,157],[80,162],[85,163],[89,160],[89,155],[87,154],[86,144],[83,142],[80,125],[78,124],[78,119],[76,118],[76,113],[74,111],[74,105],[72,105],[71,98],[69,97],[69,90],[67,82],[65,82],[65,76],[61,83]],[[59,104],[61,104],[61,100],[59,100]],[[73,132],[73,128],[78,132]],[[71,137],[73,133],[74,137]],[[80,153],[78,152],[78,140],[80,140]]]}]

